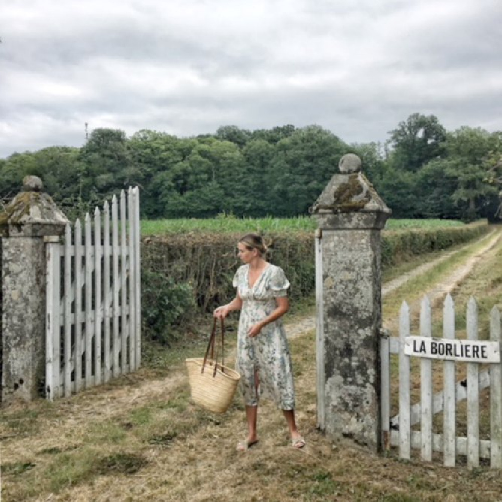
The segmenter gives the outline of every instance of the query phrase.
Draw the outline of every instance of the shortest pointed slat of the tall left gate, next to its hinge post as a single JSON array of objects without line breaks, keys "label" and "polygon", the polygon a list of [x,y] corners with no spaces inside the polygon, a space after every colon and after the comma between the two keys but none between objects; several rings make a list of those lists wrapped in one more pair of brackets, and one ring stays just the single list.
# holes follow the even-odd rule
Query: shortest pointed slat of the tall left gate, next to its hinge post
[{"label": "shortest pointed slat of the tall left gate, next to its hinge post", "polygon": [[75,366],[75,344],[72,347],[71,343],[71,326],[74,324],[75,316],[71,311],[72,291],[71,283],[71,226],[66,224],[65,237],[64,237],[64,395],[65,397],[71,396],[72,382],[71,373]]}]

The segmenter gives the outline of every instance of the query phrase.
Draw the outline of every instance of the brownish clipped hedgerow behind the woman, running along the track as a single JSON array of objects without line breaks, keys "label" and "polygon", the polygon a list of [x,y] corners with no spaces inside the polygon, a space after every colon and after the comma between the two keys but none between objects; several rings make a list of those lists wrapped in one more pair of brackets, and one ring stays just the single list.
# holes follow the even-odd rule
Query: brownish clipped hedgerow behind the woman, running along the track
[{"label": "brownish clipped hedgerow behind the woman, running along the track", "polygon": [[[385,230],[382,268],[412,255],[478,238],[488,230],[485,221],[450,228]],[[236,232],[187,232],[142,239],[142,315],[144,335],[169,343],[183,332],[194,315],[209,313],[235,295],[232,279],[240,265]],[[312,231],[267,232],[268,260],[283,268],[291,282],[292,302],[314,290]]]}]

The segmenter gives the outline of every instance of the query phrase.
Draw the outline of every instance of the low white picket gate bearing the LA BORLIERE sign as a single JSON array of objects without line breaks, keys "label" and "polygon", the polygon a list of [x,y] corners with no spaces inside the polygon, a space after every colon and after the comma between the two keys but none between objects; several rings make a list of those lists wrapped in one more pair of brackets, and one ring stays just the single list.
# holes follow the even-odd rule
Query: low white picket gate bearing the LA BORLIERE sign
[{"label": "low white picket gate bearing the LA BORLIERE sign", "polygon": [[[479,459],[489,459],[493,468],[502,468],[502,372],[500,361],[500,313],[493,307],[490,313],[490,341],[478,340],[477,306],[474,298],[467,304],[466,331],[467,340],[455,340],[455,309],[453,300],[448,295],[443,310],[443,339],[431,338],[431,306],[424,297],[420,312],[420,337],[410,337],[410,312],[403,302],[400,312],[399,338],[383,336],[381,339],[382,355],[382,424],[383,441],[387,448],[399,447],[399,456],[409,459],[412,448],[420,449],[423,460],[431,461],[433,451],[443,453],[446,466],[454,466],[457,455],[466,455],[469,467],[477,467]],[[423,338],[422,338],[423,337]],[[449,342],[449,340],[453,340]],[[447,340],[445,342],[445,340]],[[422,345],[421,342],[424,342]],[[410,400],[410,358],[406,352],[435,341],[436,352],[420,357],[420,402],[412,406]],[[467,345],[471,349],[467,351]],[[483,354],[486,361],[467,362],[467,377],[463,381],[455,380],[455,359],[469,360],[466,357],[453,357],[458,354],[472,356],[474,345],[483,345],[475,353]],[[442,347],[446,354],[439,354],[437,347]],[[457,348],[455,348],[455,346]],[[463,346],[463,348],[462,348]],[[449,353],[448,353],[449,348]],[[391,373],[390,354],[399,354],[399,415],[391,418]],[[416,355],[416,354],[414,354]],[[443,391],[433,393],[432,358],[443,359]],[[479,357],[477,358],[479,360]],[[485,369],[487,368],[487,369]],[[479,395],[489,387],[490,439],[479,437]],[[466,399],[467,436],[456,435],[456,403]],[[433,416],[443,412],[442,434],[433,433]],[[412,430],[420,424],[420,430]],[[416,427],[415,427],[416,428]],[[396,430],[397,429],[397,430]]]}]

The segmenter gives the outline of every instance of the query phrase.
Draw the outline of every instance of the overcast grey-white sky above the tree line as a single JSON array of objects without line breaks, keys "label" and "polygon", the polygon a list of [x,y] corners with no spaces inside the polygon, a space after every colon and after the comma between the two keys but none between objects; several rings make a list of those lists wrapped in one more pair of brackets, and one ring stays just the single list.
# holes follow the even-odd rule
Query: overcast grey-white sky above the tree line
[{"label": "overcast grey-white sky above the tree line", "polygon": [[0,158],[81,146],[85,122],[499,131],[501,22],[502,0],[0,0]]}]

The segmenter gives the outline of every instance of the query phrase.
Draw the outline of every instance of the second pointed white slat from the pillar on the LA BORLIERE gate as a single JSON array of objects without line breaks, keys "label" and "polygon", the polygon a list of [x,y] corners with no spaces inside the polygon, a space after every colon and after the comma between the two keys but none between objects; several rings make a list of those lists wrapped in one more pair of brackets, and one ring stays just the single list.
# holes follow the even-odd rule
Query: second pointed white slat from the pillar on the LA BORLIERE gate
[{"label": "second pointed white slat from the pillar on the LA BORLIERE gate", "polygon": [[[431,303],[427,296],[420,308],[420,336],[431,337]],[[432,361],[426,357],[420,360],[420,401],[421,401],[421,457],[432,460]]]}]

